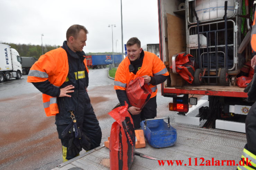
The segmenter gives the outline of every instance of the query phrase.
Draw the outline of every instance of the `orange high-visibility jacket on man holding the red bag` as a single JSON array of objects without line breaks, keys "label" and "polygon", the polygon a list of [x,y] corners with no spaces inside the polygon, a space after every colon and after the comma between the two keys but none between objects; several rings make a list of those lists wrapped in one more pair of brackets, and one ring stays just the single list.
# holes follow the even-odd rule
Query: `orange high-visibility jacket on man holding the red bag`
[{"label": "orange high-visibility jacket on man holding the red bag", "polygon": [[[141,69],[133,74],[129,71],[130,60],[126,57],[118,66],[115,74],[114,89],[115,90],[126,90],[126,85],[133,79],[141,76],[157,76],[164,75],[168,76],[169,73],[165,67],[165,64],[153,53],[144,51],[144,58]],[[151,98],[157,95],[157,86],[149,84],[149,87],[153,91]]]}]

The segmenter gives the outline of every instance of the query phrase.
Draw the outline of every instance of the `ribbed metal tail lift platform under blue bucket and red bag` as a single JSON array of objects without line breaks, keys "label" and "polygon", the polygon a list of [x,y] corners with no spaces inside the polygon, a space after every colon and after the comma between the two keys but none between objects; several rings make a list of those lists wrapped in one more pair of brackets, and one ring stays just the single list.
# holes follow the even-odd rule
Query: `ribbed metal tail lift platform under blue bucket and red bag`
[{"label": "ribbed metal tail lift platform under blue bucket and red bag", "polygon": [[[134,157],[132,170],[159,170],[159,169],[236,169],[235,166],[199,166],[200,158],[210,160],[234,160],[240,161],[242,150],[246,143],[244,133],[229,132],[217,129],[204,129],[195,126],[171,123],[177,129],[177,142],[167,148],[153,148],[146,142],[145,148],[136,151],[155,157],[158,160],[184,160],[182,166],[160,166],[158,160],[151,160],[139,156]],[[191,158],[191,166],[188,159]],[[195,166],[197,158],[197,166]],[[187,164],[185,166],[184,164]],[[53,170],[68,170],[79,167],[83,170],[109,169],[109,149],[101,146],[72,160],[64,162]]]}]

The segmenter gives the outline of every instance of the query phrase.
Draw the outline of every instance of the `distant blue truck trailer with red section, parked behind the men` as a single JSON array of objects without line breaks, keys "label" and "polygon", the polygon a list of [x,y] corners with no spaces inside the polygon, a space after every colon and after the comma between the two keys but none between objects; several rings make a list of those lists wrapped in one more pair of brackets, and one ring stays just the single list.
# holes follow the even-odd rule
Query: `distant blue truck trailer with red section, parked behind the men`
[{"label": "distant blue truck trailer with red section, parked behind the men", "polygon": [[85,56],[87,61],[87,67],[92,69],[106,68],[108,64],[114,64],[115,67],[122,61],[122,54],[114,54],[114,62],[113,62],[113,54],[107,55],[89,55]]}]

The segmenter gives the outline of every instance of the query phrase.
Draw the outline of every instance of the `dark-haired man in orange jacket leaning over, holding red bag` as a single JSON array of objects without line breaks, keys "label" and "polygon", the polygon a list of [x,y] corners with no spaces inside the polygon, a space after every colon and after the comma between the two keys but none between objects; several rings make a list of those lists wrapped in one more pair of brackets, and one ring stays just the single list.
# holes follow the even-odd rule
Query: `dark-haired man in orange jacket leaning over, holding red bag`
[{"label": "dark-haired man in orange jacket leaning over, holding red bag", "polygon": [[[125,101],[129,104],[134,129],[140,128],[140,122],[145,119],[153,119],[157,116],[157,84],[164,82],[169,75],[165,64],[153,53],[143,51],[140,40],[130,38],[126,43],[127,56],[118,66],[115,74],[114,89],[122,106]],[[126,85],[137,77],[143,77],[152,90],[151,98],[142,110],[131,106],[126,95]]]}]

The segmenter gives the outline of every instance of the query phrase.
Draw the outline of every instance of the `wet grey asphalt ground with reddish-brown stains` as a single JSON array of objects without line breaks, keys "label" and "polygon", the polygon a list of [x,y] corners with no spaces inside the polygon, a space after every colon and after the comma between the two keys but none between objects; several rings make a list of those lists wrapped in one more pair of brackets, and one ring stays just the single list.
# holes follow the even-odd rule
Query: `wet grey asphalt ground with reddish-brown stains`
[{"label": "wet grey asphalt ground with reddish-brown stains", "polygon": [[[107,68],[89,70],[88,94],[102,130],[101,144],[114,122],[107,113],[118,103],[113,84]],[[171,101],[161,96],[158,86],[158,118],[169,116],[174,122],[175,113],[168,110]],[[0,169],[45,170],[62,163],[55,117],[45,116],[42,93],[27,83],[27,76],[0,83],[0,110]]]}]

